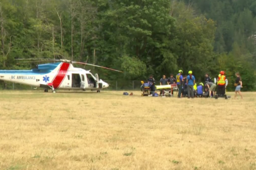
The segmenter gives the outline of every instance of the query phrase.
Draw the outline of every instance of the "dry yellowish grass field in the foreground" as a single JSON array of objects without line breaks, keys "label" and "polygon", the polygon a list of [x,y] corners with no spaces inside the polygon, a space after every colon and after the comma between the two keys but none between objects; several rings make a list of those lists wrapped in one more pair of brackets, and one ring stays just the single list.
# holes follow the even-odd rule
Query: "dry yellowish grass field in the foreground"
[{"label": "dry yellowish grass field in the foreground", "polygon": [[0,169],[256,169],[255,93],[122,94],[0,92]]}]

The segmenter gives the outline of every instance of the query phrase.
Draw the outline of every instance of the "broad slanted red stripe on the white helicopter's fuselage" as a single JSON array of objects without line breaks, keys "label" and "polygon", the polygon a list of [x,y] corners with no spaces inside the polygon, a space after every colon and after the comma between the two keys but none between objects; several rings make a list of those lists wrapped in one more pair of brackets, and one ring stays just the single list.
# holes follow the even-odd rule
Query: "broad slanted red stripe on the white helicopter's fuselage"
[{"label": "broad slanted red stripe on the white helicopter's fuselage", "polygon": [[66,73],[68,73],[69,65],[70,65],[69,63],[62,63],[61,64],[60,69],[59,69],[56,77],[52,81],[54,89],[57,89],[60,86],[60,84],[62,84],[62,81],[66,77]]}]

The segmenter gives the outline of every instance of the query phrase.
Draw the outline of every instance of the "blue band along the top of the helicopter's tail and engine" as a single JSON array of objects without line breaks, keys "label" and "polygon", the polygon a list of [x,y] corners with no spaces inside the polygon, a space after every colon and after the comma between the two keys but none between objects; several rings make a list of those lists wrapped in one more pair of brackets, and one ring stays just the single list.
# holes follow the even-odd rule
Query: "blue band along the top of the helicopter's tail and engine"
[{"label": "blue band along the top of the helicopter's tail and engine", "polygon": [[44,75],[51,73],[52,70],[56,69],[60,63],[49,63],[49,64],[38,64],[38,69],[32,70],[0,70],[0,74],[8,75]]}]

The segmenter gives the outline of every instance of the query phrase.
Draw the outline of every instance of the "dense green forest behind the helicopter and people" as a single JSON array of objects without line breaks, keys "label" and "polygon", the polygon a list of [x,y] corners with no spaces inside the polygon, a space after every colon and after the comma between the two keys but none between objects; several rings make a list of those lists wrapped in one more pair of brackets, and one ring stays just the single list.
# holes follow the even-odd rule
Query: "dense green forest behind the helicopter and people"
[{"label": "dense green forest behind the helicopter and people", "polygon": [[255,84],[255,0],[0,0],[0,69],[31,69],[16,58],[64,58],[103,80],[142,80],[193,70],[232,87]]}]

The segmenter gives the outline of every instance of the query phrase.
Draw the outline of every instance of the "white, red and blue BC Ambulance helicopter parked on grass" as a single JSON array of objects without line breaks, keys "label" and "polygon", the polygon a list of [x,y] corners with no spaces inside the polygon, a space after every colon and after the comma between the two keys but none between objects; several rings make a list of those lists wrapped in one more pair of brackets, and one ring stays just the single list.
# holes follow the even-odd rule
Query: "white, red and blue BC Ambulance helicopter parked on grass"
[{"label": "white, red and blue BC Ambulance helicopter parked on grass", "polygon": [[[44,92],[48,92],[48,90],[51,89],[53,93],[56,92],[56,89],[91,90],[100,92],[102,89],[108,87],[107,83],[101,79],[99,80],[97,73],[93,75],[90,70],[76,68],[73,64],[84,64],[96,67],[102,66],[70,60],[50,61],[56,61],[57,63],[38,64],[37,67],[32,70],[0,70],[0,80],[26,84],[34,86],[35,88],[41,87],[44,88]],[[107,67],[102,68],[121,72]]]}]

